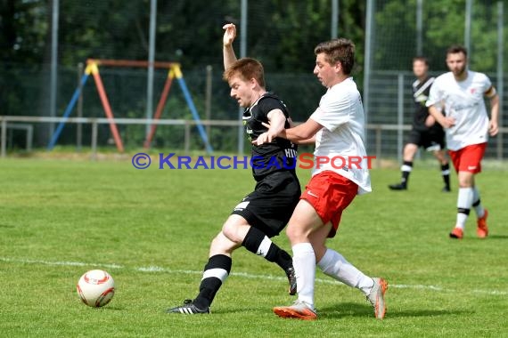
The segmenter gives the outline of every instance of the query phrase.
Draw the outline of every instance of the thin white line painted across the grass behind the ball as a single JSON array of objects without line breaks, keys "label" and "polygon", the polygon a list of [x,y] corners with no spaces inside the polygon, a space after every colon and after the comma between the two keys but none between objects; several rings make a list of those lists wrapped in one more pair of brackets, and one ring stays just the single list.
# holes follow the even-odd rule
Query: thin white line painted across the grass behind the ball
[{"label": "thin white line painted across the grass behind the ball", "polygon": [[[100,263],[86,263],[86,262],[52,262],[52,261],[42,261],[42,260],[30,260],[30,259],[17,259],[17,258],[9,258],[9,257],[0,257],[0,262],[13,262],[13,263],[22,263],[22,264],[39,264],[39,265],[51,265],[51,266],[94,266],[94,267],[102,267],[108,269],[125,269],[125,270],[136,270],[141,272],[165,272],[172,274],[185,274],[185,275],[201,275],[203,271],[196,270],[171,270],[167,268],[162,268],[158,266],[147,266],[147,267],[138,267],[138,268],[130,268],[124,265],[119,264],[100,264]],[[231,276],[238,276],[242,278],[248,279],[264,279],[264,280],[283,280],[286,278],[277,277],[272,275],[257,275],[251,274],[248,272],[232,272]],[[323,278],[315,278],[317,283],[322,284],[332,284],[332,285],[340,285],[339,281],[331,280],[331,279],[323,279]],[[420,290],[430,290],[436,292],[451,292],[456,293],[457,291],[454,289],[447,289],[441,286],[424,286],[424,285],[405,285],[405,284],[390,284],[389,287],[394,287],[398,289],[420,289]],[[461,293],[464,293],[464,290],[461,290]],[[508,291],[500,291],[500,290],[479,290],[473,289],[469,292],[469,294],[489,294],[489,295],[506,295]]]}]

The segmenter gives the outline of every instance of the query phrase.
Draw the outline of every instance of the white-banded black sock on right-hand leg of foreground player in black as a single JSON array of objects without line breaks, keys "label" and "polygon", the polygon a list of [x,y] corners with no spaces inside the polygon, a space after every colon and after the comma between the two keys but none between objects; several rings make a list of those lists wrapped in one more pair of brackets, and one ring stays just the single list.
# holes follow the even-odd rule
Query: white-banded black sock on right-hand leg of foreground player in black
[{"label": "white-banded black sock on right-hand leg of foreground player in black", "polygon": [[291,255],[275,245],[263,231],[257,228],[250,227],[242,245],[251,253],[265,257],[266,261],[277,263],[283,270],[288,270],[293,265]]}]

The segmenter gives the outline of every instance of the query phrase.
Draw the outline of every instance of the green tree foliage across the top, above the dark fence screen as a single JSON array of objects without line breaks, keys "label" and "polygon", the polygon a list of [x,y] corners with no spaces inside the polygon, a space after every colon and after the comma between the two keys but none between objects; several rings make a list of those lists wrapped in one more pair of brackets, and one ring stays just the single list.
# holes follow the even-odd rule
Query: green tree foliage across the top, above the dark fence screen
[{"label": "green tree foliage across the top, above the dark fence screen", "polygon": [[[416,52],[416,0],[374,3],[374,64],[380,69],[400,69]],[[52,3],[5,0],[2,4],[0,58],[23,64],[48,62]],[[473,5],[471,52],[477,56],[471,66],[480,71],[496,65],[496,4],[488,0]],[[221,27],[225,22],[238,24],[241,33],[238,1],[160,1],[157,12],[157,59],[181,61],[185,69],[221,65]],[[248,12],[248,54],[262,60],[268,72],[308,72],[314,64],[315,44],[330,36],[329,0],[250,2]],[[423,52],[430,56],[432,68],[443,68],[443,53],[449,44],[463,43],[464,14],[463,0],[423,2]],[[128,6],[120,0],[61,2],[59,61],[74,67],[89,57],[145,60],[149,21],[149,0]],[[338,31],[356,43],[361,69],[365,1],[340,1]],[[506,26],[504,32],[508,33]]]}]

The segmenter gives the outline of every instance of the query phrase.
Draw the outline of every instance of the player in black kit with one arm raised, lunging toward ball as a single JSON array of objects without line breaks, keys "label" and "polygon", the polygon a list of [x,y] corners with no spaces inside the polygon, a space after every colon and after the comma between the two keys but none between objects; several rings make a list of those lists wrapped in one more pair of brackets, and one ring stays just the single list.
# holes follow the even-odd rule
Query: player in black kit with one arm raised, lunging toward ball
[{"label": "player in black kit with one arm raised, lunging toward ball", "polygon": [[[266,92],[261,63],[250,58],[236,60],[232,46],[236,36],[234,25],[227,24],[224,28],[224,79],[231,87],[231,96],[245,108],[243,124],[250,140],[266,143],[252,145],[251,166],[256,188],[234,207],[212,240],[200,293],[194,300],[168,309],[168,313],[209,313],[211,302],[231,270],[231,255],[240,246],[278,264],[289,280],[289,293],[296,294],[291,255],[270,240],[286,226],[301,194],[295,173],[297,146],[276,137],[290,127],[291,119],[283,101]],[[269,124],[269,128],[264,124]]]}]

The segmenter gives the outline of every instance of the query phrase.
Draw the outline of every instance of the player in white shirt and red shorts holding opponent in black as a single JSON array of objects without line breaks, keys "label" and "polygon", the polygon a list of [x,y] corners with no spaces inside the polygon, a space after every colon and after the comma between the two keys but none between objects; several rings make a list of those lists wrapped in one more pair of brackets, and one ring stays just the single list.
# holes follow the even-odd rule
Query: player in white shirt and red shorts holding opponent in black
[{"label": "player in white shirt and red shorts holding opponent in black", "polygon": [[335,39],[318,44],[315,55],[314,74],[328,91],[307,122],[279,134],[298,143],[315,140],[315,166],[286,230],[293,252],[298,300],[291,306],[275,307],[274,312],[283,318],[317,318],[314,307],[317,265],[326,275],[361,290],[373,305],[375,317],[381,319],[386,311],[387,282],[366,276],[325,245],[327,237],[335,236],[344,209],[357,194],[372,190],[368,162],[363,160],[356,165],[366,153],[362,98],[349,76],[355,45],[347,39]]}]

